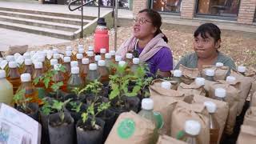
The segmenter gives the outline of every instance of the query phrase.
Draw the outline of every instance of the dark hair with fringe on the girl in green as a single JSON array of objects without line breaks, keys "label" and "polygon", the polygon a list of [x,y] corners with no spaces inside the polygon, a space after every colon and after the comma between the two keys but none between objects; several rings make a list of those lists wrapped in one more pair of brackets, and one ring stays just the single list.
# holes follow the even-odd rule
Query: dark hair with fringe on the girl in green
[{"label": "dark hair with fringe on the girl in green", "polygon": [[207,34],[209,34],[210,37],[214,38],[214,42],[221,39],[221,30],[213,23],[205,23],[199,26],[198,29],[194,31],[194,38],[198,37],[199,34],[201,34],[202,38],[208,38]]}]

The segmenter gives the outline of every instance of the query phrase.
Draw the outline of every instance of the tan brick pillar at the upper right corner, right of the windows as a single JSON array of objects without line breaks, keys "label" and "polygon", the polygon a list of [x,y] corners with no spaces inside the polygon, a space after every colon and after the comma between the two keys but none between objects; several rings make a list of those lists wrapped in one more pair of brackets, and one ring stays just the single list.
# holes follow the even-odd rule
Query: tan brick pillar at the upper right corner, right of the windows
[{"label": "tan brick pillar at the upper right corner, right of the windows", "polygon": [[241,0],[238,11],[238,23],[252,24],[254,21],[256,0]]}]

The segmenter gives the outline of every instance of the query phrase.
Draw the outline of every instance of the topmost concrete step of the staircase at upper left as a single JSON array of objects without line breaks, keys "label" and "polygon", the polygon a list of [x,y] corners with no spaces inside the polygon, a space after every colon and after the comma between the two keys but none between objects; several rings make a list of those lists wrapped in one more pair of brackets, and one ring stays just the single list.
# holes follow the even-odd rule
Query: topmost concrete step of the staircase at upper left
[{"label": "topmost concrete step of the staircase at upper left", "polygon": [[[49,15],[49,16],[63,17],[63,18],[77,18],[77,19],[81,18],[81,15],[78,15],[78,14],[63,14],[63,13],[54,13],[54,12],[40,11],[40,10],[14,9],[14,8],[1,7],[1,6],[0,6],[0,10],[18,12],[18,13],[27,13],[27,14]],[[66,7],[66,10],[68,10],[67,7]],[[84,15],[83,18],[87,20],[94,20],[96,17]]]}]

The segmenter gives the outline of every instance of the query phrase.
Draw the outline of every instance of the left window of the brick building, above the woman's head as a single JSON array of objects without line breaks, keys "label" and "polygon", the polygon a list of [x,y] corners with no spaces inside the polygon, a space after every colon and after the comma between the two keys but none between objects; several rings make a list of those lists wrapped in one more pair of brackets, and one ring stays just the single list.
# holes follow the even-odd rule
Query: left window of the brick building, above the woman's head
[{"label": "left window of the brick building, above the woman's head", "polygon": [[179,13],[182,0],[153,0],[153,9],[159,12]]}]

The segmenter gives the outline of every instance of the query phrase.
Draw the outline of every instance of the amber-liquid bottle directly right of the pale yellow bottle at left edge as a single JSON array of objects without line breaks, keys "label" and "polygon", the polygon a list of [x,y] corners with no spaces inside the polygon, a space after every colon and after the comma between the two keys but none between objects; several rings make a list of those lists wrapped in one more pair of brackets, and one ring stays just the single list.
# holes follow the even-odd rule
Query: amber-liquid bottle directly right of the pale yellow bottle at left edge
[{"label": "amber-liquid bottle directly right of the pale yellow bottle at left edge", "polygon": [[18,67],[16,62],[9,62],[9,74],[7,80],[13,85],[14,87],[14,94],[18,90],[18,87],[21,85],[21,75],[18,73]]}]

